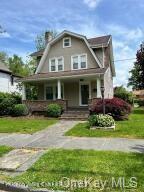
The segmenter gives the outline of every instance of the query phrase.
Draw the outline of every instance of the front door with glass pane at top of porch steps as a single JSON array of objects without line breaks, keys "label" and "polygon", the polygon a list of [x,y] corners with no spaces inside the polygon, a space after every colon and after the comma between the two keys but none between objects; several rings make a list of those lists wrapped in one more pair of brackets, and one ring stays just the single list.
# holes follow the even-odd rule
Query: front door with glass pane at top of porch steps
[{"label": "front door with glass pane at top of porch steps", "polygon": [[80,105],[87,106],[89,99],[89,84],[80,85]]}]

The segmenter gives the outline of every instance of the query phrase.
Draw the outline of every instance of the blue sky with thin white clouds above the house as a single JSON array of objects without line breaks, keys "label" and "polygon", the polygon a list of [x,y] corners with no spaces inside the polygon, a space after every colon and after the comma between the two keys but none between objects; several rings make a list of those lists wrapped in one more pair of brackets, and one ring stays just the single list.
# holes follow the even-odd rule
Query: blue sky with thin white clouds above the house
[{"label": "blue sky with thin white clouds above the house", "polygon": [[[143,0],[0,0],[0,51],[23,59],[35,50],[45,29],[64,29],[87,37],[112,34],[115,60],[135,58],[144,40]],[[134,60],[115,62],[115,85],[127,84]]]}]

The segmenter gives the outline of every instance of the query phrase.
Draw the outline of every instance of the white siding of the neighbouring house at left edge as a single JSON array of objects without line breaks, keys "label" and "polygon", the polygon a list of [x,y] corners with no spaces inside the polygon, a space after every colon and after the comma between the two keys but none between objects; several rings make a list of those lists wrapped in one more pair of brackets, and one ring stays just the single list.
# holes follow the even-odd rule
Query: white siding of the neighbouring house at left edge
[{"label": "white siding of the neighbouring house at left edge", "polygon": [[17,83],[11,84],[11,76],[7,73],[0,72],[0,92],[11,93],[20,92],[17,89]]}]

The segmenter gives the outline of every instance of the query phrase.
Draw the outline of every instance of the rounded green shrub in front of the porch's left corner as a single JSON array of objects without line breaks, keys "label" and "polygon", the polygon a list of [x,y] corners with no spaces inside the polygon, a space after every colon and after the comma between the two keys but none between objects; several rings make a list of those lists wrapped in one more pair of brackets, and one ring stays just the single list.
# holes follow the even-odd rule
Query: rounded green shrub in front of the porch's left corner
[{"label": "rounded green shrub in front of the porch's left corner", "polygon": [[16,104],[12,109],[12,116],[28,115],[28,108],[25,104]]}]

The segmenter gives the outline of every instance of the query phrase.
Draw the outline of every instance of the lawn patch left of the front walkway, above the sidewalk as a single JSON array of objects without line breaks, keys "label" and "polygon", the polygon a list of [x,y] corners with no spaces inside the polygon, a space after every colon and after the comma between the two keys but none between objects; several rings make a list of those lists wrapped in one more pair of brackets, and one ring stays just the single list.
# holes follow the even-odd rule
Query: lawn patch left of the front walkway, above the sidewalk
[{"label": "lawn patch left of the front walkway, above the sidewalk", "polygon": [[0,118],[0,133],[34,133],[56,123],[56,119]]}]

